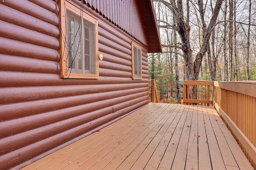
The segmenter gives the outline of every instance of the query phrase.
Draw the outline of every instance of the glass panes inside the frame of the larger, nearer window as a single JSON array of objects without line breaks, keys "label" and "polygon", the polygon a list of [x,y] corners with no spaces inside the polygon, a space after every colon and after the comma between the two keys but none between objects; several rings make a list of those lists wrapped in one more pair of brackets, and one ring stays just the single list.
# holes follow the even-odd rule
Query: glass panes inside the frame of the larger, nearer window
[{"label": "glass panes inside the frame of the larger, nearer window", "polygon": [[68,72],[96,74],[95,24],[81,19],[69,10],[67,10],[66,22]]}]

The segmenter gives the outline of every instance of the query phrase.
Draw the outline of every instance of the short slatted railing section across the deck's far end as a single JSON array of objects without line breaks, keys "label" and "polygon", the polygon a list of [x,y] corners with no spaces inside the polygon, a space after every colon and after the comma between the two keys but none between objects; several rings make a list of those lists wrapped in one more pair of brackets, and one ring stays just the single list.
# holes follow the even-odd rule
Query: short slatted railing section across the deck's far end
[{"label": "short slatted railing section across the deck's far end", "polygon": [[213,81],[184,81],[183,104],[213,104]]}]

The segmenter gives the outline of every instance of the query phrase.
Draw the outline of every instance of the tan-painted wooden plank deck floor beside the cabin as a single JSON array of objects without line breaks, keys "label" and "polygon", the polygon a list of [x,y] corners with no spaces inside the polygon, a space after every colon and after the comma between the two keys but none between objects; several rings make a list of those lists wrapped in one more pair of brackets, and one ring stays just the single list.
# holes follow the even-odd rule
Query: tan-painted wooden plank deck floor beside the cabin
[{"label": "tan-painted wooden plank deck floor beside the cabin", "polygon": [[24,170],[253,170],[214,107],[150,103]]}]

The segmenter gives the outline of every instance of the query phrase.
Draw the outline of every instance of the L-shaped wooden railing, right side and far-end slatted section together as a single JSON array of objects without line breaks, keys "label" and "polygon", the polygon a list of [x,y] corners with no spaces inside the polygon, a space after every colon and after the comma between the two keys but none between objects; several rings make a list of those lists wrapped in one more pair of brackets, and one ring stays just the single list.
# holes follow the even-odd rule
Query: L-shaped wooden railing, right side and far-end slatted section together
[{"label": "L-shaped wooden railing, right side and far-end slatted section together", "polygon": [[183,104],[213,104],[256,169],[256,82],[184,81]]}]

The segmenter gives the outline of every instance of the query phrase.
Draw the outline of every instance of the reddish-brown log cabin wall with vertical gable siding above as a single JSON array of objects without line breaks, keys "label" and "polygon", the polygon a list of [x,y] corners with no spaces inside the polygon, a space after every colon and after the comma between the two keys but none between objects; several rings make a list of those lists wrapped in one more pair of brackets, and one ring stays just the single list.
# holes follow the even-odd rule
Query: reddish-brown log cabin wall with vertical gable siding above
[{"label": "reddish-brown log cabin wall with vertical gable siding above", "polygon": [[[148,42],[135,0],[85,2],[104,56],[96,80],[59,75],[58,0],[0,1],[0,169],[26,166],[148,103]],[[142,80],[131,78],[132,41],[142,46]]]}]

